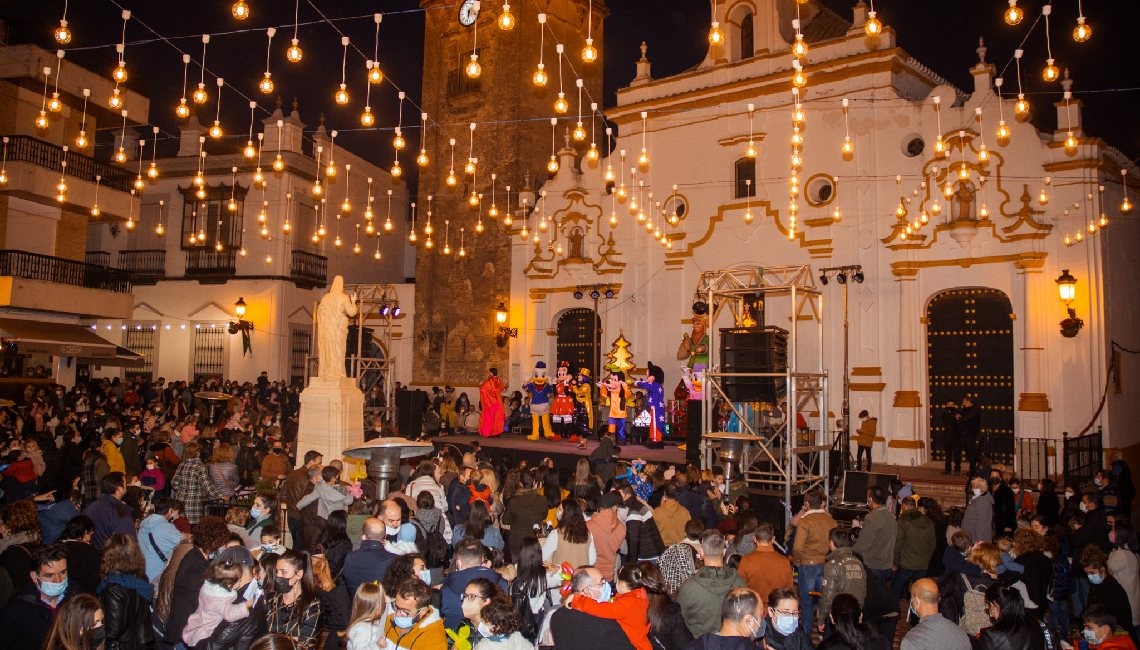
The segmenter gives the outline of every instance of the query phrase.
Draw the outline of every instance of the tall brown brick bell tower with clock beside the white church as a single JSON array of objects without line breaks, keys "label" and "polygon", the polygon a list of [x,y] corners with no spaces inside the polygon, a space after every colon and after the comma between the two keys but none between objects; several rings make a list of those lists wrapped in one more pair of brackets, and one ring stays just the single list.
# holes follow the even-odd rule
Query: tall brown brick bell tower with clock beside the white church
[{"label": "tall brown brick bell tower with clock beside the white church", "polygon": [[[425,10],[422,103],[427,113],[422,146],[430,163],[421,171],[416,201],[413,382],[478,385],[488,367],[498,366],[505,376],[510,348],[496,344],[495,307],[508,300],[511,246],[522,245],[507,234],[502,217],[488,216],[491,173],[497,177],[499,211],[505,209],[505,186],[511,186],[516,205],[527,179],[536,189],[545,181],[549,119],[559,117],[561,144],[577,121],[579,76],[588,130],[591,101],[597,101],[601,109],[602,24],[609,11],[604,0],[514,0],[510,5],[514,25],[505,31],[499,25],[505,10],[502,0],[421,0],[421,6]],[[546,16],[543,24],[539,14]],[[581,57],[587,38],[593,38],[598,51],[592,63]],[[562,115],[554,111],[560,87],[557,43],[564,48],[561,86],[570,104]],[[548,75],[543,88],[532,81],[539,52]],[[478,55],[481,68],[478,78],[466,71],[472,54]],[[602,146],[604,127],[598,121],[596,128]],[[464,172],[469,155],[477,159],[473,176]],[[456,184],[450,186],[447,178],[453,169]],[[472,190],[483,195],[481,210],[469,203]],[[431,249],[425,247],[424,234],[429,196]],[[483,233],[477,234],[480,218]],[[458,255],[461,236],[464,257]],[[443,253],[445,244],[450,254]]]}]

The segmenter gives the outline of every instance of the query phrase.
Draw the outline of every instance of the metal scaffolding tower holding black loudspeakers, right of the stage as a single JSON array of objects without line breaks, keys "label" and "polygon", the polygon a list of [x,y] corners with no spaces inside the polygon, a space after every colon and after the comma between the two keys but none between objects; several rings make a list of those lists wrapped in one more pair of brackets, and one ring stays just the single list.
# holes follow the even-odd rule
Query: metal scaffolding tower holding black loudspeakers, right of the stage
[{"label": "metal scaffolding tower holding black loudspeakers, right of the stage", "polygon": [[[820,488],[826,494],[828,373],[823,367],[823,295],[809,266],[758,267],[738,265],[701,274],[698,300],[708,304],[709,368],[701,408],[701,463],[718,460],[726,476],[736,466],[750,491],[782,498],[791,515],[792,495]],[[724,372],[718,325],[739,326],[749,304],[763,301],[764,311],[788,301],[788,364],[781,372]],[[731,317],[731,323],[718,319]],[[815,349],[807,343],[815,340]],[[733,377],[772,377],[782,384],[779,404],[752,409],[728,399]],[[782,380],[782,381],[781,381]],[[723,431],[715,407],[727,404],[739,431]],[[789,406],[790,405],[790,406]],[[805,426],[806,424],[806,426]]]}]

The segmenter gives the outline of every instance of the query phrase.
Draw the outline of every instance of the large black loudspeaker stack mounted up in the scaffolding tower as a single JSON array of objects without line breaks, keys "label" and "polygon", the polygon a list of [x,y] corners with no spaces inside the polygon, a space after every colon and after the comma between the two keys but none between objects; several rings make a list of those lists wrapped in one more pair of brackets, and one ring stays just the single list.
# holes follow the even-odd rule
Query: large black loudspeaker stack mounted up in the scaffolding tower
[{"label": "large black loudspeaker stack mounted up in the scaffolding tower", "polygon": [[[788,369],[788,331],[780,327],[720,330],[720,366],[725,373],[782,373]],[[783,377],[724,377],[731,401],[775,404],[785,392]]]}]

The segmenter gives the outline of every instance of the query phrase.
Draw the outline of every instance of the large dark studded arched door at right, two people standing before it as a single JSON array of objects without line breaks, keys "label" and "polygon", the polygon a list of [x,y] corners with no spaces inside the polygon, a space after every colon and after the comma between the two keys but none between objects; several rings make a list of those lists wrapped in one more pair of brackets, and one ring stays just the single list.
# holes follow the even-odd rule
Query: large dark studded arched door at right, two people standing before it
[{"label": "large dark studded arched door at right, two people standing before it", "polygon": [[[931,457],[945,458],[943,414],[971,397],[991,460],[1013,462],[1013,309],[995,289],[952,289],[927,306]],[[964,466],[964,465],[963,465]]]}]

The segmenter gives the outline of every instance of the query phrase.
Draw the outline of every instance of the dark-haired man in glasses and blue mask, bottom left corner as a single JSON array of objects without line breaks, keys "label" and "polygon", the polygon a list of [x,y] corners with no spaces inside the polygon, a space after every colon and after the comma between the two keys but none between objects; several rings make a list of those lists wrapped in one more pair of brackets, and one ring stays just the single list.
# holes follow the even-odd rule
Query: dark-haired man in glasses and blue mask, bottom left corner
[{"label": "dark-haired man in glasses and blue mask, bottom left corner", "polygon": [[72,594],[67,583],[67,552],[63,546],[38,547],[32,553],[31,568],[31,584],[14,593],[0,609],[3,647],[11,650],[39,650],[60,603]]}]

